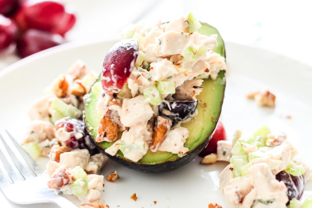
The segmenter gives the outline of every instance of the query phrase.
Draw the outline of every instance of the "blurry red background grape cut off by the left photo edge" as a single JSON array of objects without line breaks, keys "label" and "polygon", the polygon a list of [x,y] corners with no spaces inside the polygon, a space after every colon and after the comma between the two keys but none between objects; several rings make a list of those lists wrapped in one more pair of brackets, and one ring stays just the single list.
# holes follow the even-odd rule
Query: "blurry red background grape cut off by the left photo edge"
[{"label": "blurry red background grape cut off by the left photo edge", "polygon": [[17,35],[17,27],[9,18],[0,14],[0,50],[7,48]]}]

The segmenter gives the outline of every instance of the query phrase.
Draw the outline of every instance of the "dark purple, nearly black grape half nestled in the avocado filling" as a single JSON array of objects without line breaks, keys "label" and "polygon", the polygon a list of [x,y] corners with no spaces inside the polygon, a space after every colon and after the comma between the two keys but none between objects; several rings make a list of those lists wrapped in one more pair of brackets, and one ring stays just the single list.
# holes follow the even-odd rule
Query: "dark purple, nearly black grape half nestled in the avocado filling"
[{"label": "dark purple, nearly black grape half nestled in the avocado filling", "polygon": [[[198,101],[175,100],[165,101],[159,105],[159,115],[177,123],[190,118],[197,110]],[[170,107],[169,107],[170,106]]]}]

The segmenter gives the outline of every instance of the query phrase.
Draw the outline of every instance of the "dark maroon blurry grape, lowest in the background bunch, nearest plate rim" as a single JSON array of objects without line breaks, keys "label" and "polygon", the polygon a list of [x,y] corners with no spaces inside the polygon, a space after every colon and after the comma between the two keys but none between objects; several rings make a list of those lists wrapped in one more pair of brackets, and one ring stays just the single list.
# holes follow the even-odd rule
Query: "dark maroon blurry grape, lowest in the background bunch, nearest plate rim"
[{"label": "dark maroon blurry grape, lowest in the background bunch, nearest plate rim", "polygon": [[17,40],[17,53],[24,58],[64,42],[59,34],[29,29]]}]

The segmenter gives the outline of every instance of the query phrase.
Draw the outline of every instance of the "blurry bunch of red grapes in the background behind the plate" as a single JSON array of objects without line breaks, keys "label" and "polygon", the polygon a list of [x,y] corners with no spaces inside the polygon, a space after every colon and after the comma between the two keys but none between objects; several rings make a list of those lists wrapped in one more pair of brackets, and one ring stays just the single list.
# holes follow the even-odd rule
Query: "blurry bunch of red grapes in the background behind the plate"
[{"label": "blurry bunch of red grapes in the background behind the plate", "polygon": [[17,54],[26,57],[60,45],[75,22],[58,1],[0,0],[0,51],[16,42]]}]

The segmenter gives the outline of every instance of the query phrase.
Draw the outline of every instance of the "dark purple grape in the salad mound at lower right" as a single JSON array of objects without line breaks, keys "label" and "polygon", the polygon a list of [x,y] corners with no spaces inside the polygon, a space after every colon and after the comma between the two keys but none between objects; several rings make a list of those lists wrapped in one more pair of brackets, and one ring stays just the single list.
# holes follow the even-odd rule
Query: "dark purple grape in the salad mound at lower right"
[{"label": "dark purple grape in the salad mound at lower right", "polygon": [[299,200],[301,198],[305,184],[307,182],[304,175],[293,176],[288,172],[281,171],[275,176],[275,178],[278,181],[283,181],[285,183],[289,200],[293,198]]}]

